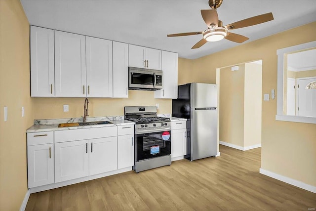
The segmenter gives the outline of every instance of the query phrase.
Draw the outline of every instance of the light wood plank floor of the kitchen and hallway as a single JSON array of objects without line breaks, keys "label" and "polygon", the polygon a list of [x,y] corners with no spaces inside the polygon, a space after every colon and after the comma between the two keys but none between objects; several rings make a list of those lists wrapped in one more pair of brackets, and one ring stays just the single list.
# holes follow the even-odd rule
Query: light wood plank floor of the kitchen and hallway
[{"label": "light wood plank floor of the kitchen and hallway", "polygon": [[287,210],[316,208],[316,194],[259,173],[261,148],[220,145],[221,156],[129,171],[31,194],[26,211]]}]

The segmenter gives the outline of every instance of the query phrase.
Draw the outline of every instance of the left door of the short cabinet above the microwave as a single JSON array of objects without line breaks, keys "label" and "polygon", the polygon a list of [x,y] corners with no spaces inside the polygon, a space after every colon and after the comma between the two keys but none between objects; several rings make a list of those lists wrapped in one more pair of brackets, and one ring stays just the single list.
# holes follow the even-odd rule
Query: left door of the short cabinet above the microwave
[{"label": "left door of the short cabinet above the microwave", "polygon": [[128,45],[128,66],[146,68],[146,47]]}]

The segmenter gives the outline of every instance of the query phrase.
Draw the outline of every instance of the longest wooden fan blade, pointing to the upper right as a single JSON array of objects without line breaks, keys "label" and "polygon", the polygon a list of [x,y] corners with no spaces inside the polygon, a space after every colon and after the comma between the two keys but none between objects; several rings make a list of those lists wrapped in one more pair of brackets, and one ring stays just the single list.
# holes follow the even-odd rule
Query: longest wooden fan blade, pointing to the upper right
[{"label": "longest wooden fan blade, pointing to the upper right", "polygon": [[226,29],[232,30],[232,29],[239,29],[247,26],[253,26],[256,24],[268,22],[273,20],[273,15],[272,12],[262,14],[262,15],[257,15],[251,18],[247,18],[241,21],[237,21],[235,23],[231,23],[225,26]]}]

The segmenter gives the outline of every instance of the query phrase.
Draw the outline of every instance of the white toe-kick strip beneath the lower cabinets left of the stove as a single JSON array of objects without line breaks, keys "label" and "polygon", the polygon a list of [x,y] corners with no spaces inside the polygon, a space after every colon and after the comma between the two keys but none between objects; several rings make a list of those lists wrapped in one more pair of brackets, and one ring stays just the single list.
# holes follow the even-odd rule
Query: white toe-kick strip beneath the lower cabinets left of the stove
[{"label": "white toe-kick strip beneath the lower cabinets left of the stove", "polygon": [[76,183],[79,183],[79,182],[85,182],[85,181],[92,180],[92,179],[98,179],[98,178],[105,177],[105,176],[110,176],[110,175],[114,175],[114,174],[118,174],[118,173],[123,173],[123,172],[130,171],[130,170],[132,170],[132,167],[127,167],[127,168],[124,168],[124,169],[113,170],[113,171],[109,171],[109,172],[105,172],[105,173],[100,173],[100,174],[96,174],[96,175],[81,177],[81,178],[72,179],[72,180],[63,181],[63,182],[57,182],[57,183],[53,183],[53,184],[49,184],[49,185],[43,185],[43,186],[39,186],[39,187],[34,187],[34,188],[30,188],[29,191],[31,193],[37,193],[37,192],[40,192],[40,191],[50,190],[50,189],[54,189],[54,188],[63,187],[63,186],[66,186],[66,185],[72,185],[72,184],[76,184]]}]

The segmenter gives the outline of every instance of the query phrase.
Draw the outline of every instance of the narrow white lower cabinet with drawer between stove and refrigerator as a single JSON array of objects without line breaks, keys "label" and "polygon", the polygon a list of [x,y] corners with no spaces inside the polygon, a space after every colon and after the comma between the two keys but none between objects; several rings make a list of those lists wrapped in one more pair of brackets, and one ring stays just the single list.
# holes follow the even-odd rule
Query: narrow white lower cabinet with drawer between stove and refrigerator
[{"label": "narrow white lower cabinet with drawer between stove and refrigerator", "polygon": [[[187,154],[187,122],[171,122],[171,159],[183,159]],[[179,159],[175,159],[179,158]]]}]

